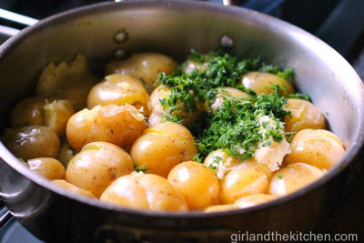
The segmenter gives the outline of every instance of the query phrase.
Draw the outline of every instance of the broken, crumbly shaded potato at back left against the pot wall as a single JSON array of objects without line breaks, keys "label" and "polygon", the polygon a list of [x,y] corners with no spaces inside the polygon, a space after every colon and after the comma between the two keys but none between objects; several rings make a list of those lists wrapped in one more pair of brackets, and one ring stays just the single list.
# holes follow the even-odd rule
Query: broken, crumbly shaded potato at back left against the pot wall
[{"label": "broken, crumbly shaded potato at back left against the pot wall", "polygon": [[36,95],[68,99],[78,111],[86,107],[88,91],[95,83],[85,56],[78,55],[70,64],[46,66],[36,85]]}]

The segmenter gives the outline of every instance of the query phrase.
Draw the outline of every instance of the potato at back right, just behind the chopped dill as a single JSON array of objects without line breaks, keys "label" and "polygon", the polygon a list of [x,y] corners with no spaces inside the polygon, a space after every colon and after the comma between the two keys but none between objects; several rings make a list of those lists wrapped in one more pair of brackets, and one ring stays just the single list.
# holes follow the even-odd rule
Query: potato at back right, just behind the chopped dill
[{"label": "potato at back right, just behind the chopped dill", "polygon": [[257,95],[272,93],[272,86],[275,85],[281,88],[284,95],[294,93],[293,86],[286,79],[268,73],[250,72],[242,76],[241,84],[254,90]]}]

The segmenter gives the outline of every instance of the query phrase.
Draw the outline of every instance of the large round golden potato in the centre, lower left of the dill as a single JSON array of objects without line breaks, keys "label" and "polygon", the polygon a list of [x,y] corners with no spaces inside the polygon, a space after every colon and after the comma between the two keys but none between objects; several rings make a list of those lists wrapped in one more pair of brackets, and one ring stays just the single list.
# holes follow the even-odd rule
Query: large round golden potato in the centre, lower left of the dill
[{"label": "large round golden potato in the centre, lower left of the dill", "polygon": [[130,150],[137,167],[146,167],[146,173],[161,177],[167,177],[173,167],[196,155],[195,139],[188,129],[169,122],[147,128]]}]

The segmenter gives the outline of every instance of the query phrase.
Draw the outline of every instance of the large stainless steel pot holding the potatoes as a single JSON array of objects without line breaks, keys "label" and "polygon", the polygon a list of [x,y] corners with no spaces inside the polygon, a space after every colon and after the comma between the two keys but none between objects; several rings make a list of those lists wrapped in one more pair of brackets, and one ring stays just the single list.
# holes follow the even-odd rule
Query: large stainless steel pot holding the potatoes
[{"label": "large stainless steel pot holding the potatoes", "polygon": [[[127,33],[127,41],[115,39]],[[233,51],[296,69],[295,86],[308,93],[347,152],[314,184],[254,208],[202,214],[116,208],[70,194],[31,173],[0,144],[0,196],[25,228],[46,241],[227,241],[231,234],[318,231],[339,201],[348,167],[364,141],[364,88],[353,68],[313,35],[268,15],[198,2],[131,1],[91,5],[26,28],[0,47],[1,130],[11,107],[32,95],[49,62],[87,56],[95,69],[124,52],[156,51],[181,59],[191,48],[209,51],[224,40]],[[224,41],[223,41],[224,42]]]}]

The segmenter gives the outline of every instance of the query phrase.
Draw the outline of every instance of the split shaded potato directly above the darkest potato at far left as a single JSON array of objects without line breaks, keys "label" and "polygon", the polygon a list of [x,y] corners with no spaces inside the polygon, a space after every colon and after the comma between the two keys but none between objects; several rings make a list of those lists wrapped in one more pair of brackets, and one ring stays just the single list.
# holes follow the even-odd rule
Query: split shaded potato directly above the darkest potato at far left
[{"label": "split shaded potato directly above the darkest potato at far left", "polygon": [[67,120],[74,113],[74,108],[68,100],[28,97],[14,107],[10,124],[12,127],[45,126],[54,130],[58,136],[63,136],[66,132]]}]

